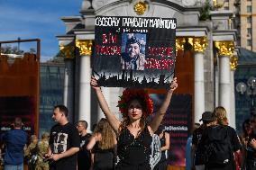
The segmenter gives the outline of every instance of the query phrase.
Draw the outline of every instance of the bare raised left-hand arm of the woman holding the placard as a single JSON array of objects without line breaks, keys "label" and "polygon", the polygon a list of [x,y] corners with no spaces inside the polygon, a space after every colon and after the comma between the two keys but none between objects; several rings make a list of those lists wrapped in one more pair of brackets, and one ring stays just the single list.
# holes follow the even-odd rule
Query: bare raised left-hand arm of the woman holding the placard
[{"label": "bare raised left-hand arm of the woman holding the placard", "polygon": [[94,76],[91,77],[91,86],[96,91],[98,103],[100,105],[102,112],[104,112],[105,114],[106,120],[109,122],[109,124],[112,126],[115,133],[117,134],[121,122],[118,121],[114,114],[110,111],[108,104],[105,101],[105,97],[102,94],[100,87],[97,85],[96,77]]}]

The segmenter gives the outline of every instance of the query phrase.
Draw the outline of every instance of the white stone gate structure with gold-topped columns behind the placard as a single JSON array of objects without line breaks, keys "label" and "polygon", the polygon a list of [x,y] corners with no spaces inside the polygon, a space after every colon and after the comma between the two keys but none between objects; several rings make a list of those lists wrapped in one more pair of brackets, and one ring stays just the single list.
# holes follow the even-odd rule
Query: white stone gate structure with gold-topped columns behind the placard
[{"label": "white stone gate structure with gold-topped columns behind the placard", "polygon": [[[90,130],[104,116],[90,87],[96,16],[161,17],[177,19],[175,94],[188,96],[189,100],[188,105],[176,101],[171,107],[179,111],[191,107],[186,114],[191,115],[188,123],[193,125],[203,112],[224,106],[229,124],[235,128],[233,75],[237,37],[233,11],[217,11],[210,5],[198,0],[84,0],[78,16],[62,17],[66,32],[57,38],[59,49],[65,54],[63,100],[73,113],[73,121],[86,120]],[[123,88],[103,87],[102,91],[110,109],[119,117],[116,105]],[[178,152],[185,150],[179,148]],[[184,166],[184,157],[178,160],[177,165]]]}]

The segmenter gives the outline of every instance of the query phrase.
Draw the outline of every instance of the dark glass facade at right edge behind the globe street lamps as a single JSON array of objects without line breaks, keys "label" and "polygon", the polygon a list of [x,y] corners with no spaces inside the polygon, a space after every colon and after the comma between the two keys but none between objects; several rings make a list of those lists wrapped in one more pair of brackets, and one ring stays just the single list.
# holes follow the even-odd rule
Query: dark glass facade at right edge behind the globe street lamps
[{"label": "dark glass facade at right edge behind the globe street lamps", "polygon": [[251,77],[256,79],[255,56],[256,53],[249,49],[240,49],[238,66],[234,74],[236,126],[239,133],[242,133],[242,122],[251,119],[251,115],[256,113],[256,87],[250,86]]}]

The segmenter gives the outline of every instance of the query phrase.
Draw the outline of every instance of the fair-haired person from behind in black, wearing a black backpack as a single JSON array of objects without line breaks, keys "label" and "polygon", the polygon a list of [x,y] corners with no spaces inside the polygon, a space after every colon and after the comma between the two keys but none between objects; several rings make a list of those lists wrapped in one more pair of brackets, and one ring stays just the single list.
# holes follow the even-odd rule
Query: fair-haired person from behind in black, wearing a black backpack
[{"label": "fair-haired person from behind in black, wearing a black backpack", "polygon": [[199,142],[205,148],[206,170],[235,170],[233,154],[240,153],[241,144],[235,130],[224,125],[224,117],[224,107],[216,107],[214,121],[203,132]]}]

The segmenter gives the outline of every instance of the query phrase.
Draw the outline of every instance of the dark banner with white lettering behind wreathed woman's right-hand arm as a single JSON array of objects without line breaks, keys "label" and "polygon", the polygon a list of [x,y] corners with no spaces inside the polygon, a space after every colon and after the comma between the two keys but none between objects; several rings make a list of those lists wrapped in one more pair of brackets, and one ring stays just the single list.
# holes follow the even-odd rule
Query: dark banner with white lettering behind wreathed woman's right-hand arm
[{"label": "dark banner with white lettering behind wreathed woman's right-hand arm", "polygon": [[[158,111],[165,98],[164,94],[151,94],[154,112]],[[173,94],[169,109],[162,121],[169,132],[169,165],[185,166],[185,149],[192,119],[192,95]],[[154,116],[154,114],[152,115]]]}]

